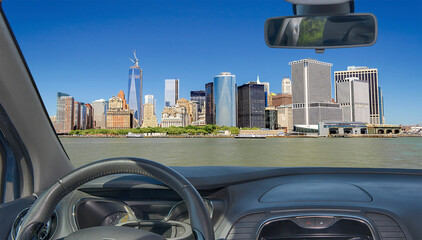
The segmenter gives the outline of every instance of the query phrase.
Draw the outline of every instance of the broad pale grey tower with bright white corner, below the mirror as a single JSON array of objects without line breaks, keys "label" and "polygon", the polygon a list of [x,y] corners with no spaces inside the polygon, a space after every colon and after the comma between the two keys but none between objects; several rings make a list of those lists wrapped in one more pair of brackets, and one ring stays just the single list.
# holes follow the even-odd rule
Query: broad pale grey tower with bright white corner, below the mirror
[{"label": "broad pale grey tower with bright white corner, below the mirror", "polygon": [[341,121],[342,109],[331,98],[331,63],[303,59],[290,63],[292,69],[293,125],[311,126],[319,122]]}]

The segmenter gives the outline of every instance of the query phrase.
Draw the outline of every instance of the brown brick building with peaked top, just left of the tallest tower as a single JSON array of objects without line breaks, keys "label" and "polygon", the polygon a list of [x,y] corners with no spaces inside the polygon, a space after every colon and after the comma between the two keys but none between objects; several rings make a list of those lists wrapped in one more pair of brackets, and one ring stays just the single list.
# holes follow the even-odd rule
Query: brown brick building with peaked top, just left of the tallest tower
[{"label": "brown brick building with peaked top, just left of the tallest tower", "polygon": [[128,129],[133,127],[133,111],[128,109],[125,94],[120,91],[117,97],[108,100],[107,128]]}]

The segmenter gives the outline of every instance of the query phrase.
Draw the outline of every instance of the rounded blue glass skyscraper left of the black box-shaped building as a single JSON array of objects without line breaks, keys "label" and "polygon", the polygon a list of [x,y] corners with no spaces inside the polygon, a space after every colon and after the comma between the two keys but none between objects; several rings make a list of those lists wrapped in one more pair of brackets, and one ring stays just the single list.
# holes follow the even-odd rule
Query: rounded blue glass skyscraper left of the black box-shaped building
[{"label": "rounded blue glass skyscraper left of the black box-shaped building", "polygon": [[215,123],[236,126],[236,76],[222,72],[214,77]]}]

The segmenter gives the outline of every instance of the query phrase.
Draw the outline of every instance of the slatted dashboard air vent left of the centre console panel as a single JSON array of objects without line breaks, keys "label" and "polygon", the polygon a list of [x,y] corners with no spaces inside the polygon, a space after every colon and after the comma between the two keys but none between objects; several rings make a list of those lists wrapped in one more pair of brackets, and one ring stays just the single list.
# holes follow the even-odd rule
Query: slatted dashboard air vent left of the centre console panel
[{"label": "slatted dashboard air vent left of the centre console panel", "polygon": [[258,223],[264,218],[265,213],[254,213],[240,218],[230,230],[227,240],[249,240]]}]

